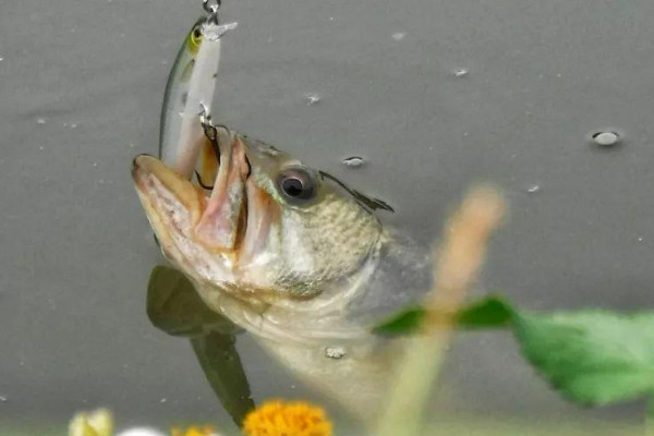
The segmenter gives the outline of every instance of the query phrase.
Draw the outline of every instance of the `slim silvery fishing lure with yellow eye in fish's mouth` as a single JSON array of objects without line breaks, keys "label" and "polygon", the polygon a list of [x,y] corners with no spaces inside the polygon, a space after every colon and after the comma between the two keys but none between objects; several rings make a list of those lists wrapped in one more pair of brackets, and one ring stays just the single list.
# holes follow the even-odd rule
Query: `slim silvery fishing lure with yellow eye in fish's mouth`
[{"label": "slim silvery fishing lure with yellow eye in fish's mouth", "polygon": [[[220,65],[221,37],[238,23],[199,17],[187,33],[168,75],[160,114],[159,158],[186,178],[216,173],[213,150],[197,114],[209,112]],[[197,161],[197,165],[195,164]]]}]

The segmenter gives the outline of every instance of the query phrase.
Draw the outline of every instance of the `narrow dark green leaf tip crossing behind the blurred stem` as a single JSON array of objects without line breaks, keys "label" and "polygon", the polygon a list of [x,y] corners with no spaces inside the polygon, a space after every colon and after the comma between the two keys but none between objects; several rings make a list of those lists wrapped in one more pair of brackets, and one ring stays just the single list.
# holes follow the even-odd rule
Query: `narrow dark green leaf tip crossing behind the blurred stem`
[{"label": "narrow dark green leaf tip crossing behind the blurred stem", "polygon": [[[426,311],[422,307],[405,310],[378,324],[373,331],[387,335],[410,335],[419,330]],[[513,310],[502,299],[489,296],[473,303],[459,312],[457,327],[468,329],[507,327],[511,323]]]}]

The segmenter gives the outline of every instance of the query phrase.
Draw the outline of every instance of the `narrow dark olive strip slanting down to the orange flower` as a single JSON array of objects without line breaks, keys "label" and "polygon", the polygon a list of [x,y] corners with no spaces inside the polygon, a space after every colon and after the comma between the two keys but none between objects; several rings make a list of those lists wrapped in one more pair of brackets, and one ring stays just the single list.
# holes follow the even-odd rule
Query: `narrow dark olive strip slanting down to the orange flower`
[{"label": "narrow dark olive strip slanting down to the orange flower", "polygon": [[193,351],[220,403],[241,427],[254,401],[233,335],[213,332],[191,339]]}]

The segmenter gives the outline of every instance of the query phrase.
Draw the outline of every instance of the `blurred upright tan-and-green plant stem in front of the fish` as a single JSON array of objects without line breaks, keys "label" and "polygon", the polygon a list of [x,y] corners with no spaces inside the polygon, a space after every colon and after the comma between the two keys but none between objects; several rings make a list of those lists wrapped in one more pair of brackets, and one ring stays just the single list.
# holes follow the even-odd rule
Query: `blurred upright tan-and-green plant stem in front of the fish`
[{"label": "blurred upright tan-and-green plant stem in front of the fish", "polygon": [[[378,436],[415,436],[422,412],[450,342],[455,314],[484,259],[487,239],[504,214],[504,202],[489,189],[473,191],[446,225],[445,241],[435,264],[435,283],[427,296],[423,336],[413,338],[399,362]],[[436,327],[436,328],[434,328]]]}]

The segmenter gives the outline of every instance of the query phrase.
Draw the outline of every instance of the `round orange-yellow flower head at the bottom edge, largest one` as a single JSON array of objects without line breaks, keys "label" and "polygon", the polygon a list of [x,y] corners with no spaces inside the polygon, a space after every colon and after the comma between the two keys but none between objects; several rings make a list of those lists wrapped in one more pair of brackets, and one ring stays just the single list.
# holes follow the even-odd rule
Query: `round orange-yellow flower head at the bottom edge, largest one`
[{"label": "round orange-yellow flower head at the bottom edge, largest one", "polygon": [[325,411],[304,401],[270,400],[245,417],[246,436],[331,436]]}]

